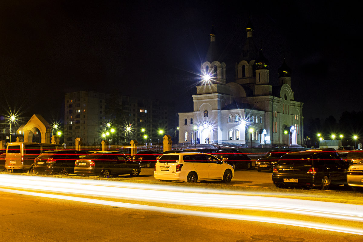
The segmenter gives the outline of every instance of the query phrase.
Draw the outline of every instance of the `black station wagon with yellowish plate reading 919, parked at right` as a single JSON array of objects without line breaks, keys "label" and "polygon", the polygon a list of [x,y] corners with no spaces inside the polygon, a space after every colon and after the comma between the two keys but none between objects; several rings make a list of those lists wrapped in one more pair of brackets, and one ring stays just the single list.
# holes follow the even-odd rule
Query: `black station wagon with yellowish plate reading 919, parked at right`
[{"label": "black station wagon with yellowish plate reading 919, parked at right", "polygon": [[348,167],[335,152],[291,152],[277,162],[272,181],[279,188],[297,186],[327,190],[330,185],[347,184]]}]

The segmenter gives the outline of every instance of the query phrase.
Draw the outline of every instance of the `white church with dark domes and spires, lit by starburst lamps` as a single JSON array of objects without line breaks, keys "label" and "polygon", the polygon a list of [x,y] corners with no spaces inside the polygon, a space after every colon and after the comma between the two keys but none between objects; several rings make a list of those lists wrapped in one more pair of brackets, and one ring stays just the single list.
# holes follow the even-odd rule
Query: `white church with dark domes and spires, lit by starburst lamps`
[{"label": "white church with dark domes and spires, lit by starburst lamps", "polygon": [[226,65],[218,61],[212,28],[205,77],[193,95],[193,111],[179,113],[179,143],[221,141],[245,147],[303,143],[302,102],[294,100],[290,68],[278,69],[278,86],[269,82],[269,61],[253,42],[253,26],[235,65],[235,81],[226,83]]}]

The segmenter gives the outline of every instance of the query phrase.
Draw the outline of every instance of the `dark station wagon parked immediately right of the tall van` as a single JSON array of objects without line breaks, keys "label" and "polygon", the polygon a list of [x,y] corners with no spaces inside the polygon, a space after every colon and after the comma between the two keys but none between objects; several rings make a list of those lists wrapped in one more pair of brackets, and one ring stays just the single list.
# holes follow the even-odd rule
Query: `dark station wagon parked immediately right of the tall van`
[{"label": "dark station wagon parked immediately right of the tall van", "polygon": [[74,171],[74,162],[85,157],[87,152],[76,150],[45,151],[34,159],[34,173],[69,175]]}]

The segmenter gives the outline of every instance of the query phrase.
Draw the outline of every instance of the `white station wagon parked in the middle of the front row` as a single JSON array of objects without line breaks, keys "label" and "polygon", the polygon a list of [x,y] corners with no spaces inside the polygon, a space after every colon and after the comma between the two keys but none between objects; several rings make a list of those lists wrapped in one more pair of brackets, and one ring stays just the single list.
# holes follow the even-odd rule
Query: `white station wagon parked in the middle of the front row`
[{"label": "white station wagon parked in the middle of the front row", "polygon": [[223,180],[228,183],[234,177],[234,169],[209,154],[172,153],[162,155],[156,162],[154,177],[161,181]]}]

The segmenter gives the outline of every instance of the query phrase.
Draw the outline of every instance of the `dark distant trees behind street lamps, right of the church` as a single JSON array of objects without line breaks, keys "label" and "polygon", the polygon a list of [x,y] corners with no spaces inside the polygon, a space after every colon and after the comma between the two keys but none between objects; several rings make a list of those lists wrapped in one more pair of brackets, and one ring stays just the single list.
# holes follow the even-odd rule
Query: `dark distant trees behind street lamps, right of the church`
[{"label": "dark distant trees behind street lamps, right of the church", "polygon": [[[304,126],[306,147],[318,147],[318,134],[325,140],[333,139],[332,135],[335,135],[334,139],[341,139],[343,146],[354,146],[354,144],[358,146],[358,143],[363,141],[363,111],[344,111],[339,122],[334,116],[329,116],[324,122],[319,118],[306,120]],[[343,138],[340,138],[340,135],[343,135]],[[357,136],[356,140],[354,136]]]}]

